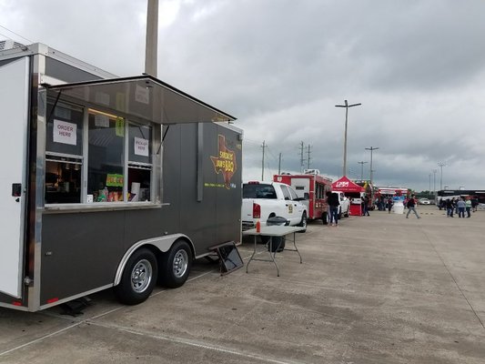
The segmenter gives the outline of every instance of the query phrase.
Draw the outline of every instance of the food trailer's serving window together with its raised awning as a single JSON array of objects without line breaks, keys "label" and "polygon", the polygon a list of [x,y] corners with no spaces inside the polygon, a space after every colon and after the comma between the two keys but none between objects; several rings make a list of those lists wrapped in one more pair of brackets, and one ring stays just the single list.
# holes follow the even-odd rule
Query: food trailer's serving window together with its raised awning
[{"label": "food trailer's serving window together with its raised awning", "polygon": [[162,124],[235,120],[152,76],[45,88],[46,207],[155,203]]}]

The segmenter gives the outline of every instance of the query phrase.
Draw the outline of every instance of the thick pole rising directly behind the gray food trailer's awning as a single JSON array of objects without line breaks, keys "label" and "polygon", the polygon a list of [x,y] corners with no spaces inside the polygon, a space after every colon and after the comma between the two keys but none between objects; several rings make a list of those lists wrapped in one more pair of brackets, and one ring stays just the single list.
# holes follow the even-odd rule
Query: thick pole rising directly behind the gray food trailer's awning
[{"label": "thick pole rising directly behind the gray food trailer's awning", "polygon": [[148,0],[147,43],[145,45],[145,73],[157,77],[158,0]]}]

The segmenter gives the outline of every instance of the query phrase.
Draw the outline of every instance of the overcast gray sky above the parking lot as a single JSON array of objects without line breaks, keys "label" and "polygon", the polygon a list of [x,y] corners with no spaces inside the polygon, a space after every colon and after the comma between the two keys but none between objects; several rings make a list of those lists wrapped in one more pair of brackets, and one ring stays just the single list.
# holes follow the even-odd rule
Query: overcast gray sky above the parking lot
[{"label": "overcast gray sky above the parking lot", "polygon": [[[243,177],[304,167],[417,191],[485,188],[485,1],[159,0],[158,78],[244,130]],[[146,0],[0,0],[0,39],[144,72]],[[15,33],[12,33],[15,32]],[[26,38],[26,39],[25,39]],[[358,162],[368,162],[363,165]],[[437,170],[433,174],[433,169]],[[431,175],[431,177],[429,177]],[[429,182],[430,181],[430,182]]]}]

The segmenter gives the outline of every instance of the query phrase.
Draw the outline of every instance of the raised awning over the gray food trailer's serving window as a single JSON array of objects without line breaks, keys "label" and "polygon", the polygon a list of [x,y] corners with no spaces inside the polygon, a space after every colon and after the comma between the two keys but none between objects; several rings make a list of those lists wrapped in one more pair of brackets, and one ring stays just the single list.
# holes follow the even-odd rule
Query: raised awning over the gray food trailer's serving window
[{"label": "raised awning over the gray food trailer's serving window", "polygon": [[138,116],[158,124],[233,121],[236,117],[153,76],[133,76],[48,86],[60,98]]}]

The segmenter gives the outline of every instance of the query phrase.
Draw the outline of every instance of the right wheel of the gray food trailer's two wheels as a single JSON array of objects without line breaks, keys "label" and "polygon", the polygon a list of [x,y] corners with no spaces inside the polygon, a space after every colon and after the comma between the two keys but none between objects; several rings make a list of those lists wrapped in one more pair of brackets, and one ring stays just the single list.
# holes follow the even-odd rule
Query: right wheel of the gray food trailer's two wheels
[{"label": "right wheel of the gray food trailer's two wheels", "polygon": [[187,241],[177,241],[160,259],[159,283],[167,288],[178,288],[186,283],[192,267],[192,250]]}]

